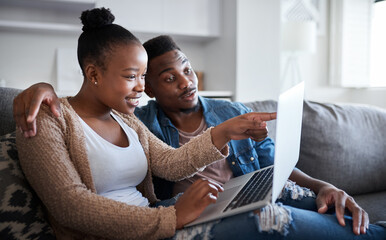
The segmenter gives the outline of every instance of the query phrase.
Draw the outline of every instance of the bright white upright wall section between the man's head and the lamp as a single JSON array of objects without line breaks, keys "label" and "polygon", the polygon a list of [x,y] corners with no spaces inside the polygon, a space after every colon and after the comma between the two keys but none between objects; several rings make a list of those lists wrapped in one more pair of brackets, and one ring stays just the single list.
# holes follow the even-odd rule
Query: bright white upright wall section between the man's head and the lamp
[{"label": "bright white upright wall section between the man's head and the lamp", "polygon": [[280,91],[280,0],[238,0],[237,101],[276,99]]}]

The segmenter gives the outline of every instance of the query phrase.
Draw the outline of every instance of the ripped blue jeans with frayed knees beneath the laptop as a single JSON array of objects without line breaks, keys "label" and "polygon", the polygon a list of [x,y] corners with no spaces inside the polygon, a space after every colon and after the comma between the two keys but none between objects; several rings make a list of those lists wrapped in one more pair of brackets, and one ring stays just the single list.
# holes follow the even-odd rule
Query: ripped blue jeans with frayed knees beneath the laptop
[{"label": "ripped blue jeans with frayed knees beneath the laptop", "polygon": [[[246,212],[184,228],[177,230],[170,239],[386,239],[386,228],[373,224],[366,234],[356,236],[350,216],[345,216],[346,226],[342,227],[334,213],[316,211],[312,192],[293,192],[291,187],[285,188],[277,203],[262,208],[260,214]],[[161,201],[156,206],[171,206],[178,197]]]}]

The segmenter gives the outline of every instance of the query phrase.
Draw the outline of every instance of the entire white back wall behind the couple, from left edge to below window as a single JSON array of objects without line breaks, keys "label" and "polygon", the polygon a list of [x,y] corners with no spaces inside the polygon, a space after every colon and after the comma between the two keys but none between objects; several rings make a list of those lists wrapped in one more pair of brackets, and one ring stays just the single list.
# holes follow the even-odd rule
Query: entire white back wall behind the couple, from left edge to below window
[{"label": "entire white back wall behind the couple, from left edge to below window", "polygon": [[[178,44],[193,67],[204,71],[206,90],[233,91],[239,101],[275,99],[282,68],[278,53],[280,1],[221,2],[220,38],[210,41],[177,39]],[[26,88],[41,81],[55,85],[56,48],[76,48],[78,34],[0,28],[0,79],[4,79],[8,87],[15,88]],[[300,59],[302,78],[306,80],[306,98],[386,108],[384,88],[344,89],[329,85],[328,39],[327,28],[326,34],[318,37],[317,53]]]}]

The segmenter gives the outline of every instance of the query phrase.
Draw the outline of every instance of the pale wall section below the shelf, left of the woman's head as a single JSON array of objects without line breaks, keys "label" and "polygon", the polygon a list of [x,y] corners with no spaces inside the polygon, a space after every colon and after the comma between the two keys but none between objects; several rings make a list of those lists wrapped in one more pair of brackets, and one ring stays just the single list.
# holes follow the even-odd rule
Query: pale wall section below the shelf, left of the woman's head
[{"label": "pale wall section below the shelf, left of the woman's head", "polygon": [[[76,48],[77,36],[0,31],[0,78],[7,87],[56,81],[56,48]],[[82,79],[80,79],[82,80]]]}]

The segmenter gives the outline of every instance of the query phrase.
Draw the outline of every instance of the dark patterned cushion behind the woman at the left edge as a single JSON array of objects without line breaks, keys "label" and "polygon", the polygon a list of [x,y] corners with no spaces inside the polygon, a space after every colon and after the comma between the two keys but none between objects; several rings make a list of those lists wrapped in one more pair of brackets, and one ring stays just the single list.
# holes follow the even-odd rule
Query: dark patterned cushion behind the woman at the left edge
[{"label": "dark patterned cushion behind the woman at the left edge", "polygon": [[0,239],[55,239],[21,171],[15,136],[0,137]]}]

